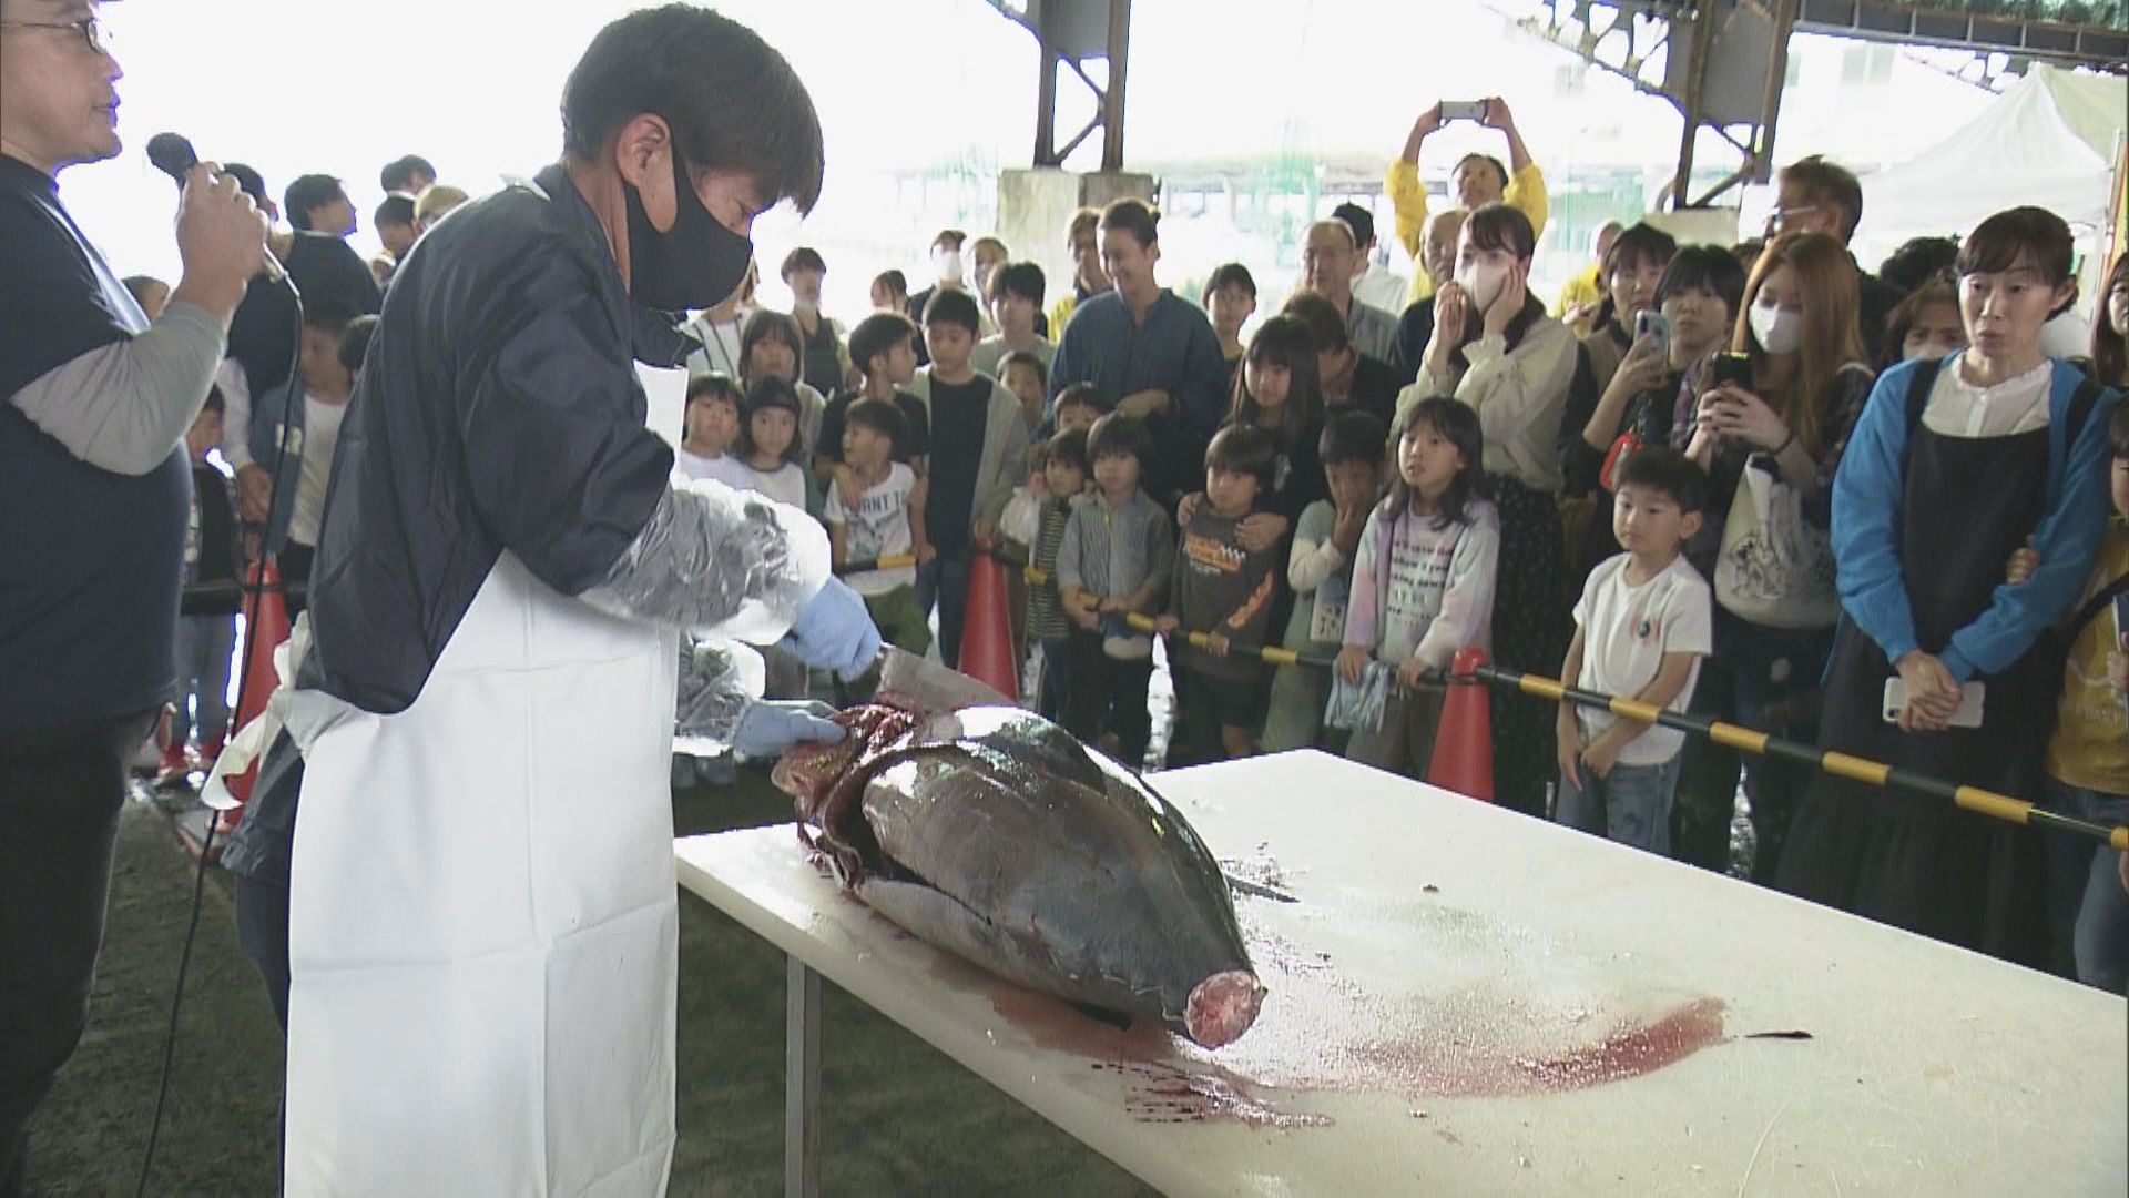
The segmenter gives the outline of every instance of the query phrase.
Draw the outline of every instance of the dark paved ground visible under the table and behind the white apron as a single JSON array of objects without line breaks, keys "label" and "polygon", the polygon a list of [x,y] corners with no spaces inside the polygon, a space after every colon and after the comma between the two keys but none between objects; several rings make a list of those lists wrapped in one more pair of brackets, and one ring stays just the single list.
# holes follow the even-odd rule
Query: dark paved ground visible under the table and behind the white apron
[{"label": "dark paved ground visible under the table and behind the white apron", "polygon": [[[764,774],[675,799],[681,831],[788,816]],[[132,804],[89,1032],[30,1130],[32,1194],[132,1194],[155,1108],[192,859]],[[679,1147],[673,1194],[773,1194],[783,1179],[783,957],[681,893]],[[822,1019],[828,1194],[1145,1194],[847,993]],[[209,872],[149,1194],[270,1194],[281,1034]]]}]

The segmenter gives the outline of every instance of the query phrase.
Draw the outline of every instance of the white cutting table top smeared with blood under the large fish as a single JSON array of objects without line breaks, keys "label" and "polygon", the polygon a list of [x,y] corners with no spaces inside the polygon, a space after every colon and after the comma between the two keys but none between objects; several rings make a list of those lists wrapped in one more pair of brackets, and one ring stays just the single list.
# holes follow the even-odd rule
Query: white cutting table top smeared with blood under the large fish
[{"label": "white cutting table top smeared with blood under the large fish", "polygon": [[[1148,1040],[901,934],[790,827],[679,840],[679,880],[1169,1194],[2129,1192],[2120,998],[1320,752],[1150,780],[1301,900],[1237,897],[1273,995],[1224,1074],[1113,1068]],[[1676,1064],[1516,1085],[1710,998]]]}]

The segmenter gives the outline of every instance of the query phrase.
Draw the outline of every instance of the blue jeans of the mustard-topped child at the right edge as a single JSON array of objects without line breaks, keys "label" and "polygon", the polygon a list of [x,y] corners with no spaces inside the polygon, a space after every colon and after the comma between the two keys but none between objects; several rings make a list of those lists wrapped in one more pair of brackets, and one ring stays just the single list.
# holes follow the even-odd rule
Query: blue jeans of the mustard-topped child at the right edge
[{"label": "blue jeans of the mustard-topped child at the right edge", "polygon": [[[2048,778],[2048,806],[2093,823],[2129,823],[2129,797]],[[2120,855],[2065,833],[2048,833],[2048,936],[2067,942],[2078,981],[2108,993],[2129,989],[2129,891]]]}]

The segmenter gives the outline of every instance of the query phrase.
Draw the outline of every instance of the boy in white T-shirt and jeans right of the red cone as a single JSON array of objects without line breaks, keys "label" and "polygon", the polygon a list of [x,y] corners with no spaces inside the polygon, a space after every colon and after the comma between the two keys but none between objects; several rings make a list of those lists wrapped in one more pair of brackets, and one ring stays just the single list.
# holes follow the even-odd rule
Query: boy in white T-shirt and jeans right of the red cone
[{"label": "boy in white T-shirt and jeans right of the red cone", "polygon": [[[1624,458],[1612,531],[1624,552],[1590,571],[1561,678],[1584,691],[1686,710],[1714,648],[1714,597],[1682,548],[1701,524],[1707,475],[1669,446]],[[1561,703],[1554,819],[1648,853],[1671,851],[1671,797],[1686,733]]]}]

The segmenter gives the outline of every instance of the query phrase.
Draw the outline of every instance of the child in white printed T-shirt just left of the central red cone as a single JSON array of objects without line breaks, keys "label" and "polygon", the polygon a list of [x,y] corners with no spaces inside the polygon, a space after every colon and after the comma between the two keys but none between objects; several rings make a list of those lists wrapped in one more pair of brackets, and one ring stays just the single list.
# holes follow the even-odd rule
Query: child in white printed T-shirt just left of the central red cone
[{"label": "child in white printed T-shirt just left of the central red cone", "polygon": [[[935,550],[924,539],[924,480],[894,460],[907,433],[903,409],[879,399],[858,401],[843,414],[843,463],[864,490],[856,507],[845,507],[841,495],[828,490],[824,520],[837,569],[852,561],[901,554],[913,554],[918,563],[933,558]],[[930,625],[918,605],[915,565],[864,569],[843,582],[864,597],[881,637],[918,657],[930,648]]]}]

